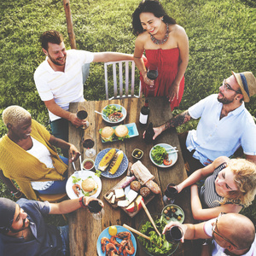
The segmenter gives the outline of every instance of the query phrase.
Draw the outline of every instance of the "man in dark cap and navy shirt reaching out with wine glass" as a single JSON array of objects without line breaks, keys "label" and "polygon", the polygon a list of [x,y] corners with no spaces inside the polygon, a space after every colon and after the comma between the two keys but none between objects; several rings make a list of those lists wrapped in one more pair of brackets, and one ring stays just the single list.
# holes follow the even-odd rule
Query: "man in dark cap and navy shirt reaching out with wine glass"
[{"label": "man in dark cap and navy shirt reaching out with wine glass", "polygon": [[68,226],[55,227],[46,224],[44,217],[48,214],[66,214],[81,207],[85,208],[90,201],[100,200],[81,196],[60,203],[49,203],[22,198],[15,203],[0,197],[0,255],[70,255]]}]

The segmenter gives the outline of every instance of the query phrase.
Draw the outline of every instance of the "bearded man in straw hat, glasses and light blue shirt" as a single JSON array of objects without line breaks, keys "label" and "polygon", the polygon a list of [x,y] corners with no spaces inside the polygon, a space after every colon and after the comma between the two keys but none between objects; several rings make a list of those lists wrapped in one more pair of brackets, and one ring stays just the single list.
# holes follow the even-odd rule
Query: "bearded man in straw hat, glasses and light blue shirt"
[{"label": "bearded man in straw hat, glasses and light blue shirt", "polygon": [[244,105],[255,94],[253,73],[232,72],[219,87],[218,95],[207,96],[164,125],[154,128],[153,138],[190,119],[200,119],[196,131],[179,136],[188,172],[207,166],[219,156],[230,157],[240,147],[247,160],[256,163],[256,125]]}]

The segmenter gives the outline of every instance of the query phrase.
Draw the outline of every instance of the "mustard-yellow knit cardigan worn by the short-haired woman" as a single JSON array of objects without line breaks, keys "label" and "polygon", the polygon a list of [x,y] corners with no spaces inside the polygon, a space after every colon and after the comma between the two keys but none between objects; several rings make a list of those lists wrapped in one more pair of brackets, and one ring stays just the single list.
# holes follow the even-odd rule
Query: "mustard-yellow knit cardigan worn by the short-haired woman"
[{"label": "mustard-yellow knit cardigan worn by the short-haired woman", "polygon": [[37,200],[31,182],[63,180],[63,173],[67,170],[67,165],[60,159],[55,147],[50,145],[49,131],[33,119],[31,136],[48,148],[55,168],[46,167],[44,163],[20,148],[5,135],[0,139],[0,169],[5,177],[15,179],[20,190],[28,199]]}]

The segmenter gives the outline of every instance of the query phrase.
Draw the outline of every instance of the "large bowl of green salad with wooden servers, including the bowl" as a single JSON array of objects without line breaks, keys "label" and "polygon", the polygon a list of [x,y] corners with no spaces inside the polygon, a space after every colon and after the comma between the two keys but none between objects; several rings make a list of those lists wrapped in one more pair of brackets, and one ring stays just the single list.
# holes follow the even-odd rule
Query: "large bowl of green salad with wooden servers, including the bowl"
[{"label": "large bowl of green salad with wooden servers, including the bowl", "polygon": [[[166,219],[161,214],[153,214],[152,218],[154,219],[154,224],[157,229],[162,234],[167,222]],[[177,244],[172,244],[166,241],[166,236],[162,235],[161,237],[154,230],[153,225],[148,220],[148,218],[144,218],[142,222],[139,224],[138,230],[146,236],[151,238],[150,241],[143,238],[143,236],[138,236],[138,243],[141,247],[143,247],[143,251],[150,256],[170,256],[172,255],[178,247]]]}]

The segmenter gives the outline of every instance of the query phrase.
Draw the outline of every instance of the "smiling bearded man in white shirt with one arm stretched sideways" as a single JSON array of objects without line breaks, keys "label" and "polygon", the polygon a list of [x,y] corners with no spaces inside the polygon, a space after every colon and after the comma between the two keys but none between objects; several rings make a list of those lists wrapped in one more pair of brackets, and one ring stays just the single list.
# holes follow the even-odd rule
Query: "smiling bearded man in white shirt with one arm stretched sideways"
[{"label": "smiling bearded man in white shirt with one arm stretched sideways", "polygon": [[66,50],[60,32],[50,30],[41,36],[41,44],[46,59],[34,73],[39,96],[49,111],[52,133],[67,141],[68,122],[76,127],[85,124],[76,113],[68,112],[70,102],[84,101],[82,67],[90,62],[133,60],[132,55],[85,50]]}]

